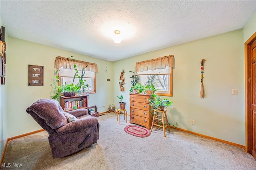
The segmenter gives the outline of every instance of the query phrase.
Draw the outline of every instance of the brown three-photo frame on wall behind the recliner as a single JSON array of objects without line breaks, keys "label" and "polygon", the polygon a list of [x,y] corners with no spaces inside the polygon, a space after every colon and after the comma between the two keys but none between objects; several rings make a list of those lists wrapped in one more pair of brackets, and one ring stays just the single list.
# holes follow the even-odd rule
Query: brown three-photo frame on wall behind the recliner
[{"label": "brown three-photo frame on wall behind the recliner", "polygon": [[28,65],[28,86],[44,85],[44,66]]}]

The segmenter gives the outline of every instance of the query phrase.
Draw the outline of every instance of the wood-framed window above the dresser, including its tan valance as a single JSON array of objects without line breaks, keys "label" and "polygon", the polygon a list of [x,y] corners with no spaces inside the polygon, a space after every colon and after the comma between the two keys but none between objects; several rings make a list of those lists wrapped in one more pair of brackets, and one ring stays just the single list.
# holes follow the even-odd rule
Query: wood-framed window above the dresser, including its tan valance
[{"label": "wood-framed window above the dresser, including its tan valance", "polygon": [[154,87],[159,89],[157,95],[172,96],[172,67],[174,56],[164,56],[156,59],[136,63],[140,82],[145,84],[149,78],[153,79]]}]

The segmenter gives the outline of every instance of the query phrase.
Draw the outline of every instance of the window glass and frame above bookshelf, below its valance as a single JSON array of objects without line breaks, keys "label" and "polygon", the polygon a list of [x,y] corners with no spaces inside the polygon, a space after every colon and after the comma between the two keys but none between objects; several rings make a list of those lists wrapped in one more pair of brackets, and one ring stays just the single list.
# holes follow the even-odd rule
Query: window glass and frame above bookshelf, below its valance
[{"label": "window glass and frame above bookshelf, below its valance", "polygon": [[[78,75],[81,75],[82,71],[78,71]],[[72,69],[64,69],[59,68],[58,76],[59,76],[59,85],[64,84],[71,84],[73,82],[74,74],[76,73],[75,70]],[[96,73],[92,71],[85,71],[83,79],[86,80],[86,84],[90,85],[89,93],[96,93]],[[74,84],[77,84],[79,79],[76,77],[74,80]],[[82,91],[83,89],[81,89]]]}]

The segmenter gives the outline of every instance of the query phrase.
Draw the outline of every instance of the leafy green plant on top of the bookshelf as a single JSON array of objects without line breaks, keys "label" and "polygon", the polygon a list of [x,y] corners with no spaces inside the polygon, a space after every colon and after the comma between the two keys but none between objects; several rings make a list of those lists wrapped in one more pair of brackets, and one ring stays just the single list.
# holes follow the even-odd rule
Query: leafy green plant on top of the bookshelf
[{"label": "leafy green plant on top of the bookshelf", "polygon": [[[57,93],[55,93],[55,96],[52,97],[52,99],[58,100],[58,98],[61,95],[64,95],[64,96],[75,96],[76,93],[80,92],[81,89],[88,89],[88,87],[90,87],[90,85],[86,84],[86,80],[83,79],[84,73],[85,73],[85,69],[82,68],[82,73],[79,76],[78,75],[78,70],[76,69],[76,65],[74,65],[74,68],[75,68],[76,73],[74,74],[72,83],[64,84],[64,85],[61,85],[61,86],[57,85],[56,86]],[[74,84],[74,81],[75,81],[76,78],[78,78],[79,81],[78,81],[77,84]],[[56,76],[56,79],[59,81],[59,77],[58,76]]]}]

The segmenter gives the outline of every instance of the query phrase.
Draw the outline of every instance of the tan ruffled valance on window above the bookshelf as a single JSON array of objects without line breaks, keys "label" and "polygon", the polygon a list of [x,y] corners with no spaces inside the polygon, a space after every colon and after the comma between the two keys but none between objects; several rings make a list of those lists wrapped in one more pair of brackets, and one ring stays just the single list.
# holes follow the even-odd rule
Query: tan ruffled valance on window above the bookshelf
[{"label": "tan ruffled valance on window above the bookshelf", "polygon": [[74,64],[76,65],[76,69],[82,70],[84,67],[85,71],[92,71],[98,73],[98,65],[95,63],[89,63],[86,61],[80,61],[76,59],[70,59],[65,57],[56,57],[55,65],[56,68],[63,67],[64,69],[74,69]]}]

